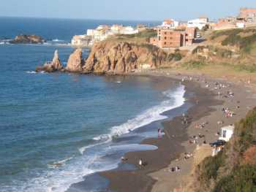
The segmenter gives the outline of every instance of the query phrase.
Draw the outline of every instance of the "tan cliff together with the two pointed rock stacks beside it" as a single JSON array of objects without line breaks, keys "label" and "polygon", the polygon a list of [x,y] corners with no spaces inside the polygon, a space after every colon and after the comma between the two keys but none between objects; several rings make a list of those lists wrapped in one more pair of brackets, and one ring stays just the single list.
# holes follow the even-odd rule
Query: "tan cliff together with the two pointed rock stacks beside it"
[{"label": "tan cliff together with the two pointed rock stacks beside it", "polygon": [[65,68],[61,66],[58,55],[50,64],[37,67],[37,71],[126,74],[156,69],[164,64],[167,64],[167,53],[154,45],[103,41],[91,48],[87,59],[83,59],[82,49],[78,48],[69,56]]}]

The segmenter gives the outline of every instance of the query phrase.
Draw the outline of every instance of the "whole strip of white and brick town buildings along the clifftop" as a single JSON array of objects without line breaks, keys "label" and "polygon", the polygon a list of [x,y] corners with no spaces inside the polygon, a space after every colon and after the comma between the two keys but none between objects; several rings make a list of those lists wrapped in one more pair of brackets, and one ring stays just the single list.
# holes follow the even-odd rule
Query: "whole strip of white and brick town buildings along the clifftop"
[{"label": "whole strip of white and brick town buildings along the clifftop", "polygon": [[[153,27],[157,31],[156,37],[151,37],[149,44],[160,48],[186,49],[192,47],[197,39],[201,38],[200,31],[224,30],[231,28],[249,28],[256,26],[256,9],[241,8],[237,16],[219,18],[217,22],[210,21],[206,16],[201,16],[187,22],[174,19],[166,19],[162,25]],[[91,47],[95,42],[100,42],[115,35],[138,34],[145,30],[146,26],[98,26],[95,29],[87,30],[86,34],[75,35],[71,45],[74,47]]]}]

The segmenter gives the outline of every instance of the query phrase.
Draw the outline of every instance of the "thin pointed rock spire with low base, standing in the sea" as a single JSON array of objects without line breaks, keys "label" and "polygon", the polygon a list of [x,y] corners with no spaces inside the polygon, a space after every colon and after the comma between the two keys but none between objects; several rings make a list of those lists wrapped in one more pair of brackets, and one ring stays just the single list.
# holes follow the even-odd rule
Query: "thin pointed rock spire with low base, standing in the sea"
[{"label": "thin pointed rock spire with low base, standing in the sea", "polygon": [[56,72],[61,71],[63,66],[59,60],[58,50],[54,52],[53,61],[45,63],[43,66],[38,66],[36,72]]}]

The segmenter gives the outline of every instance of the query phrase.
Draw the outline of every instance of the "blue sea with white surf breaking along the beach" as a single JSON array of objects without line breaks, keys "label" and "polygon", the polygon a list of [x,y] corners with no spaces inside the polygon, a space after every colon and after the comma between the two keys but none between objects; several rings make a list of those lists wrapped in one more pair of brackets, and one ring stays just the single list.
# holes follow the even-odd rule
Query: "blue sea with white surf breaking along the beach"
[{"label": "blue sea with white surf breaking along the beach", "polygon": [[[184,85],[161,77],[37,73],[59,50],[67,64],[75,34],[103,24],[159,22],[0,18],[0,41],[38,34],[43,45],[0,44],[0,191],[78,191],[86,176],[116,169],[129,151],[157,137],[162,120],[186,110]],[[83,57],[90,53],[83,49]],[[179,110],[178,110],[179,109]],[[173,111],[172,115],[165,114]],[[136,169],[127,165],[123,169]],[[108,184],[108,182],[107,182]],[[83,191],[102,191],[105,181]],[[99,188],[99,186],[102,186]]]}]

